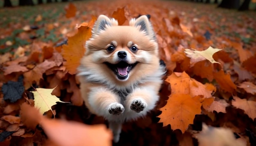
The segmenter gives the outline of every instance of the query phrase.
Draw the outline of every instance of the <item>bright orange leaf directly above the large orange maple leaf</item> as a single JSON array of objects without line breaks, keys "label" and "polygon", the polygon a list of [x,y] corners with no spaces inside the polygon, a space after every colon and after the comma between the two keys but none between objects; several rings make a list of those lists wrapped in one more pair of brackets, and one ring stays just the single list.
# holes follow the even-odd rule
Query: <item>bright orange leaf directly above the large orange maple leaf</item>
[{"label": "bright orange leaf directly above the large orange maple leaf", "polygon": [[203,95],[204,98],[210,98],[211,93],[216,91],[212,84],[202,84],[190,78],[186,72],[174,72],[165,81],[171,84],[171,94],[190,94],[191,97]]}]

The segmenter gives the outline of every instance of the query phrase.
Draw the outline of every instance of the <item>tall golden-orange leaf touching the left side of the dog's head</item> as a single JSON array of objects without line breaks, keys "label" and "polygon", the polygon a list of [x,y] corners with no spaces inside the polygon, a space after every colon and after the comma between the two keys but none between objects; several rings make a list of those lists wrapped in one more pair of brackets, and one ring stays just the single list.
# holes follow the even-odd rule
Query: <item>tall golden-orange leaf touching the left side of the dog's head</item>
[{"label": "tall golden-orange leaf touching the left side of the dog's head", "polygon": [[76,73],[76,68],[80,64],[80,60],[85,53],[85,42],[92,35],[92,29],[90,27],[79,27],[78,33],[76,35],[68,38],[67,45],[63,45],[62,55],[66,62],[64,66],[69,71],[70,74],[74,75]]}]

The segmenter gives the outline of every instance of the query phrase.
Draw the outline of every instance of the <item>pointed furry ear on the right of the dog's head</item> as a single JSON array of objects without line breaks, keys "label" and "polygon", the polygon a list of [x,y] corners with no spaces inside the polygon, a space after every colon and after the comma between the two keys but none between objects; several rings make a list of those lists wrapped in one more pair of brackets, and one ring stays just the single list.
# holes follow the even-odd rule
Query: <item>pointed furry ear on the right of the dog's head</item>
[{"label": "pointed furry ear on the right of the dog's head", "polygon": [[146,15],[142,15],[137,19],[131,19],[129,25],[132,27],[137,27],[139,31],[145,33],[150,40],[156,40],[155,32]]}]

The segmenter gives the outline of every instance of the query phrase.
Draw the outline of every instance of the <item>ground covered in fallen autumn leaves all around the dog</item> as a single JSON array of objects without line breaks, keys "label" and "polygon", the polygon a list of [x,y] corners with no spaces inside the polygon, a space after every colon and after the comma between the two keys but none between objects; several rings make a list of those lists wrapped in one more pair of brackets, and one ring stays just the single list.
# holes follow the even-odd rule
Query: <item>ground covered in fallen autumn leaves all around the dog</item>
[{"label": "ground covered in fallen autumn leaves all around the dog", "polygon": [[[75,76],[82,46],[100,14],[123,25],[150,15],[168,69],[155,110],[124,124],[114,145],[256,144],[256,12],[132,0],[0,9],[1,146],[110,145],[104,126],[81,125],[107,122],[83,105]],[[54,90],[50,95],[37,88]],[[52,106],[58,101],[54,95],[70,103]],[[28,105],[52,110],[42,117]],[[54,117],[79,123],[49,120]]]}]

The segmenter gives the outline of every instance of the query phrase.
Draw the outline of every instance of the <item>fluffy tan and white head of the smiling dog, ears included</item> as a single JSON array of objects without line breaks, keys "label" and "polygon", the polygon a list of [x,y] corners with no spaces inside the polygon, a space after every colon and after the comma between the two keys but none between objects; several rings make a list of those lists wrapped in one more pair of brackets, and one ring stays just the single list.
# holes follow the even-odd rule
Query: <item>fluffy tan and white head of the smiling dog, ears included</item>
[{"label": "fluffy tan and white head of the smiling dog, ears included", "polygon": [[100,15],[85,47],[81,68],[104,80],[134,82],[159,67],[155,33],[145,15],[130,20],[130,26],[118,26],[115,19]]}]

